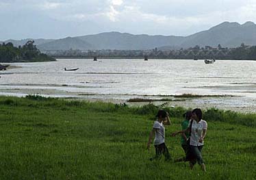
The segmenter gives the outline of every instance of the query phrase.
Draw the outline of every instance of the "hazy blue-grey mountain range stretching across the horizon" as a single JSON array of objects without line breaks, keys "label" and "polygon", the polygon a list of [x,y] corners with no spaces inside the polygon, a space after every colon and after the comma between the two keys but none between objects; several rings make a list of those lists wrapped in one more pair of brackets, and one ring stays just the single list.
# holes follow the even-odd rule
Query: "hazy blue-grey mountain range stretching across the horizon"
[{"label": "hazy blue-grey mountain range stretching across the horizon", "polygon": [[[23,45],[27,40],[7,40],[14,46]],[[224,22],[206,31],[200,31],[190,36],[149,36],[146,34],[133,35],[116,31],[101,34],[67,37],[62,39],[35,39],[35,44],[44,50],[97,50],[97,49],[180,49],[199,45],[200,47],[239,47],[240,44],[256,45],[256,25],[253,22],[239,23]]]}]

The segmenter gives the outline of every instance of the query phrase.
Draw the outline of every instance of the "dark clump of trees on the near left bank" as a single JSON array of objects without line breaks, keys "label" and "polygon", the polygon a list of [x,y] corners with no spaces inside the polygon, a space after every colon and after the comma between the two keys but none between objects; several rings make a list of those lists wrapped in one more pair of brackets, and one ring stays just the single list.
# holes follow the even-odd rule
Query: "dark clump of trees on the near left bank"
[{"label": "dark clump of trees on the near left bank", "polygon": [[0,44],[0,62],[44,62],[55,61],[34,45],[34,40],[29,40],[22,47],[14,47],[12,42]]}]

